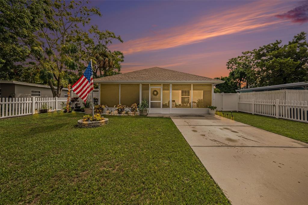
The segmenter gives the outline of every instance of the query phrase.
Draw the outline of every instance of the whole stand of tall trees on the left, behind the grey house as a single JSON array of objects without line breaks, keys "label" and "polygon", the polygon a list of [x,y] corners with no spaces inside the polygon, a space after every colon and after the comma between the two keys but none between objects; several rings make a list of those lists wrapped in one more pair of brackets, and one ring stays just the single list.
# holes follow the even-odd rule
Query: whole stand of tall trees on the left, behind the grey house
[{"label": "whole stand of tall trees on the left, behind the grey house", "polygon": [[[115,39],[123,41],[97,26],[86,30],[93,15],[101,16],[87,1],[0,2],[2,80],[47,84],[53,96],[59,97],[63,87],[80,77],[90,59],[100,76],[120,72],[123,53],[110,51],[108,45]],[[94,57],[99,45],[104,49]]]}]

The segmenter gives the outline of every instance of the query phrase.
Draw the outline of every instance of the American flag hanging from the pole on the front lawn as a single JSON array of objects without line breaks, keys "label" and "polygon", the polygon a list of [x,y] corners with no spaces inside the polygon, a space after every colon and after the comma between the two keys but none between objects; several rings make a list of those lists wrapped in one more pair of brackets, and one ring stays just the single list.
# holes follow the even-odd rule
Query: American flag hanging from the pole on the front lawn
[{"label": "American flag hanging from the pole on the front lawn", "polygon": [[81,78],[72,86],[72,89],[84,102],[87,101],[88,94],[93,90],[93,72],[91,62],[89,62],[89,65]]}]

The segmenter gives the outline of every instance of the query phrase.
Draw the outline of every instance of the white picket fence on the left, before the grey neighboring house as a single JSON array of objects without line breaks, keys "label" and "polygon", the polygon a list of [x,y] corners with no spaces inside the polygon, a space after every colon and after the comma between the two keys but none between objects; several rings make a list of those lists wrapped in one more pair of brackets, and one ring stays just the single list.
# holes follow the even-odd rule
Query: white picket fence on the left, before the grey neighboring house
[{"label": "white picket fence on the left, before the grey neighboring house", "polygon": [[0,118],[32,115],[39,113],[42,106],[48,111],[61,110],[66,101],[67,97],[2,98]]}]

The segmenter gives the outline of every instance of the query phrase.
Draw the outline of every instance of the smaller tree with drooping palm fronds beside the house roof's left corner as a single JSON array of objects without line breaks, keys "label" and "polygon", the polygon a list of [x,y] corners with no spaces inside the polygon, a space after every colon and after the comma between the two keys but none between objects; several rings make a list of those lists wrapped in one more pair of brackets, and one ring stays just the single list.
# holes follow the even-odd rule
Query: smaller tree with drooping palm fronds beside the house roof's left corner
[{"label": "smaller tree with drooping palm fronds beside the house roof's left corner", "polygon": [[123,43],[121,37],[108,30],[99,31],[97,26],[92,26],[89,32],[95,35],[96,45],[92,48],[92,55],[96,77],[120,74],[122,67],[120,62],[124,61],[124,55],[120,51],[110,51],[108,46],[113,40]]}]

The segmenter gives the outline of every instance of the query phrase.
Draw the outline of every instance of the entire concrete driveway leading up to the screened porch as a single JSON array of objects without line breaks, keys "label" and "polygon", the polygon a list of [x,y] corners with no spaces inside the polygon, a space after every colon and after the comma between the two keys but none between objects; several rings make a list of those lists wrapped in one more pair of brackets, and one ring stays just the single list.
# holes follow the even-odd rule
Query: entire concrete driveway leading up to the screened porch
[{"label": "entire concrete driveway leading up to the screened porch", "polygon": [[233,204],[307,204],[308,144],[220,116],[171,116]]}]

